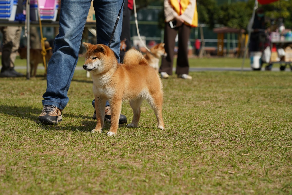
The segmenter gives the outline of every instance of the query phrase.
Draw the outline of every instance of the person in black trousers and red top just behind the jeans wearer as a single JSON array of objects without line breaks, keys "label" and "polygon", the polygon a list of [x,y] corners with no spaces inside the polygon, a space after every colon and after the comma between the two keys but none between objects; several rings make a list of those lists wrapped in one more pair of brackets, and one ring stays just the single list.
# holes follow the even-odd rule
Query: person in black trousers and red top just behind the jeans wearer
[{"label": "person in black trousers and red top just behind the jeans wearer", "polygon": [[131,49],[130,18],[133,10],[133,0],[125,0],[123,11],[123,26],[121,32],[120,59],[124,61],[126,51]]}]

